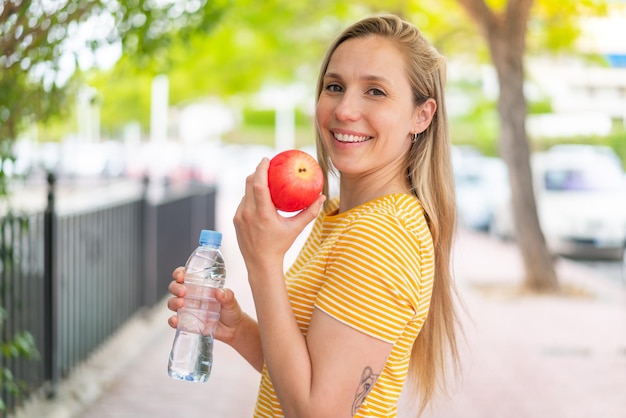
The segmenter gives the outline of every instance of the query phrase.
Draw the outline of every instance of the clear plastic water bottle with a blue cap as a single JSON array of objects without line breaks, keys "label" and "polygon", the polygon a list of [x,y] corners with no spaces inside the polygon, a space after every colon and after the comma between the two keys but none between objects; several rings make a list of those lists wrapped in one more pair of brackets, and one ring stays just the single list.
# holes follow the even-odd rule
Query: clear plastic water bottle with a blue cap
[{"label": "clear plastic water bottle with a blue cap", "polygon": [[178,310],[178,326],[168,363],[170,377],[188,382],[206,382],[213,365],[213,334],[221,305],[215,300],[224,287],[226,268],[220,251],[222,234],[202,230],[200,246],[185,264],[184,307]]}]

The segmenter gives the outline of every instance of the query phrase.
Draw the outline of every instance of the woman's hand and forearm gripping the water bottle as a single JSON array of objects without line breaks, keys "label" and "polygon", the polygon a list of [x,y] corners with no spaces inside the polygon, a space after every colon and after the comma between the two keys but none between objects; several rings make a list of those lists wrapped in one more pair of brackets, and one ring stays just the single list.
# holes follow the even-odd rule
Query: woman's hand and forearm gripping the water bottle
[{"label": "woman's hand and forearm gripping the water bottle", "polygon": [[[174,280],[168,290],[173,295],[167,301],[167,307],[177,312],[185,302],[186,289],[183,284],[184,268],[178,267],[172,273]],[[233,347],[259,373],[263,369],[263,350],[259,325],[254,318],[243,312],[230,289],[216,292],[216,299],[222,304],[220,322],[215,330],[215,339]],[[178,325],[178,316],[172,315],[168,319],[172,328]]]}]

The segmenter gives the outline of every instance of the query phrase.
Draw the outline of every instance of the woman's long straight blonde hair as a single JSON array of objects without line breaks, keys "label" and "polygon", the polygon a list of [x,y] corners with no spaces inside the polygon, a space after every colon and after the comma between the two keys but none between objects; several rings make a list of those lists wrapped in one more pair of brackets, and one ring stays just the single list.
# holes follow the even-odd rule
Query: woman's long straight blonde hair
[{"label": "woman's long straight blonde hair", "polygon": [[[414,25],[394,15],[369,17],[348,27],[331,44],[322,61],[317,98],[322,92],[323,77],[337,47],[348,39],[368,36],[392,41],[403,54],[415,105],[429,98],[437,103],[431,124],[419,134],[410,148],[406,166],[407,178],[424,208],[435,247],[435,280],[430,310],[413,345],[409,366],[409,381],[420,397],[421,415],[438,389],[446,390],[448,360],[452,360],[454,371],[459,369],[456,340],[459,321],[454,303],[456,287],[451,272],[456,203],[444,96],[446,63]],[[323,147],[319,129],[316,143],[318,160],[326,180],[324,193],[328,195],[328,174],[333,167]]]}]

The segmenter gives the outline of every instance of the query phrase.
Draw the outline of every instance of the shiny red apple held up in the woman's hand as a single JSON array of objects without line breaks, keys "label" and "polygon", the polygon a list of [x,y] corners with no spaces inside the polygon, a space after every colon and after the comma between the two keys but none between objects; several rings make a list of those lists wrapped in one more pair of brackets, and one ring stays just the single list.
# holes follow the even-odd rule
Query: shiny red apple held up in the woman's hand
[{"label": "shiny red apple held up in the woman's hand", "polygon": [[276,209],[296,212],[315,202],[322,192],[324,176],[311,155],[287,150],[270,160],[267,183]]}]

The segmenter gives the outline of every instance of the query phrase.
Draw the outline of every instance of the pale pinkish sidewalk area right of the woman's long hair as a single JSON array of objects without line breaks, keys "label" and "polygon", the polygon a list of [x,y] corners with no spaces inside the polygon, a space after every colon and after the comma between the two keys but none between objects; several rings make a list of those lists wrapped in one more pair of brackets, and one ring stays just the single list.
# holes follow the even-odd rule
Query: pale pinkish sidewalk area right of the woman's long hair
[{"label": "pale pinkish sidewalk area right of the woman's long hair", "polygon": [[462,233],[463,380],[429,418],[626,417],[626,287],[569,261],[567,295],[523,295],[515,247]]}]

